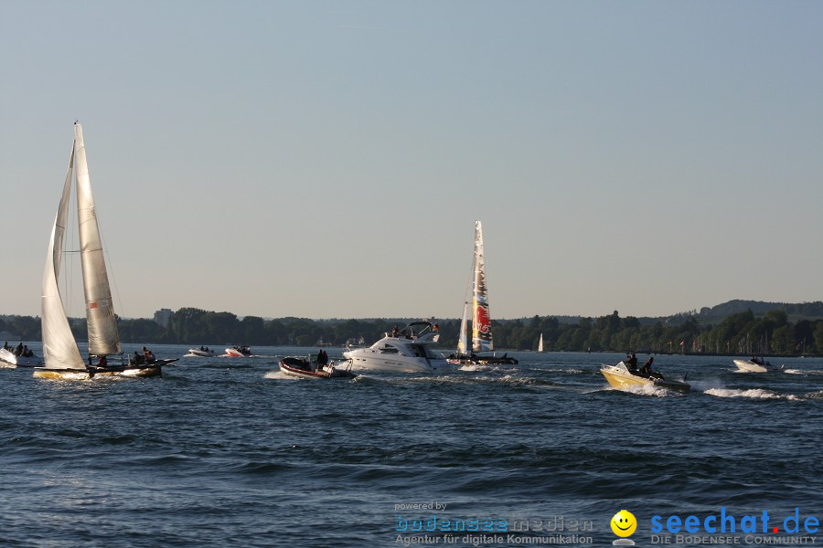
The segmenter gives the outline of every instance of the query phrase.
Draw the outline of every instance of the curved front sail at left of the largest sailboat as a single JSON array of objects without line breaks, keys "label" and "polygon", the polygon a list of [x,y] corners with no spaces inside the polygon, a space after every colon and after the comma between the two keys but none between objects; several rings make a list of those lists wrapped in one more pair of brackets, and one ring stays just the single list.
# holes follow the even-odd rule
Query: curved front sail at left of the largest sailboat
[{"label": "curved front sail at left of the largest sailboat", "polygon": [[69,216],[69,194],[71,193],[71,175],[74,170],[74,146],[71,147],[69,173],[63,184],[58,212],[51,229],[46,255],[46,269],[43,271],[43,294],[40,297],[43,332],[43,359],[53,369],[77,369],[84,366],[80,350],[74,335],[71,334],[63,300],[60,297],[58,279],[63,262],[63,240],[66,234],[66,221]]}]

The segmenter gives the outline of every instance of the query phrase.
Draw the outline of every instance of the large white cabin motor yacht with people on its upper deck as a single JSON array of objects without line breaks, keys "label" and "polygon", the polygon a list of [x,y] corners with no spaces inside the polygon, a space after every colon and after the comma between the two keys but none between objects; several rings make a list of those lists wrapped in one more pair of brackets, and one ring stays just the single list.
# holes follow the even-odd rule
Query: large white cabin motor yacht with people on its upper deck
[{"label": "large white cabin motor yacht with people on its upper deck", "polygon": [[413,321],[400,332],[385,333],[368,348],[349,349],[343,355],[355,370],[391,373],[445,373],[454,367],[432,347],[439,334],[429,321]]}]

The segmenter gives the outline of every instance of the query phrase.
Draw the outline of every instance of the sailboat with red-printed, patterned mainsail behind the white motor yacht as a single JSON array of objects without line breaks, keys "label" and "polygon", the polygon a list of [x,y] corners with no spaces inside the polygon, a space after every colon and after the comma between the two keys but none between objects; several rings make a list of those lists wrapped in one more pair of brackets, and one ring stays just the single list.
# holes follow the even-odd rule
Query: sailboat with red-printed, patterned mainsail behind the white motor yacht
[{"label": "sailboat with red-printed, patterned mainsail behind the white motor yacht", "polygon": [[[460,337],[457,354],[449,357],[450,364],[517,364],[518,360],[508,355],[494,354],[491,316],[488,313],[488,290],[486,288],[486,258],[483,254],[483,226],[475,221],[475,256],[472,280],[472,352],[466,353],[468,342],[468,302],[464,303],[463,321],[460,322]],[[492,353],[484,355],[481,353]]]}]

